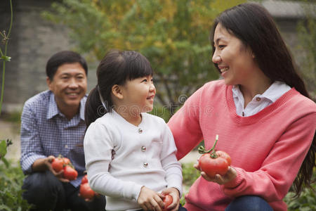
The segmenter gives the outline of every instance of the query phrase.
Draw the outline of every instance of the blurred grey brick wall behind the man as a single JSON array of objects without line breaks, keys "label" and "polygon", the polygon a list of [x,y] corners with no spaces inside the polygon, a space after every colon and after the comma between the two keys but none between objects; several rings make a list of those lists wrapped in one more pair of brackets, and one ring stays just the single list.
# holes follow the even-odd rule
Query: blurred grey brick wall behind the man
[{"label": "blurred grey brick wall behind the man", "polygon": [[[28,98],[46,90],[45,68],[48,58],[58,51],[69,50],[74,46],[65,27],[41,17],[41,12],[50,8],[53,1],[13,2],[13,28],[7,53],[12,59],[6,63],[4,112],[20,111]],[[8,0],[1,0],[1,31],[7,30],[10,15]],[[95,75],[95,71],[90,68],[89,90],[96,83]]]}]

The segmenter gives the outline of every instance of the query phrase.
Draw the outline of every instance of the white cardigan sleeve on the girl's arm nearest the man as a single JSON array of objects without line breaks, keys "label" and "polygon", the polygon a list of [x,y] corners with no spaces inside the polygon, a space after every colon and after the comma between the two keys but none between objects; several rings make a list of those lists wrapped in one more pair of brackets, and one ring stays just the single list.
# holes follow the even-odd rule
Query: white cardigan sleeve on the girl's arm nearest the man
[{"label": "white cardigan sleeve on the girl's arm nearest the man", "polygon": [[113,148],[114,143],[107,128],[101,124],[92,123],[84,137],[84,155],[89,184],[94,191],[103,195],[137,201],[142,186],[133,181],[116,179],[108,171]]}]

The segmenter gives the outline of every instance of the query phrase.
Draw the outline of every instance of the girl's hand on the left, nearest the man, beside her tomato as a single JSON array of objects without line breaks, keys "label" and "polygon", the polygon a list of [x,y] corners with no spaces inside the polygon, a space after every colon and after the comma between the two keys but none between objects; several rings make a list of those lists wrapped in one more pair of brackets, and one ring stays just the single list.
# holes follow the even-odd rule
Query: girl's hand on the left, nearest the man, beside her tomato
[{"label": "girl's hand on the left, nearest the man, beside her tomato", "polygon": [[162,194],[152,191],[150,188],[143,186],[140,189],[140,193],[137,199],[138,205],[142,207],[143,210],[155,210],[162,211],[164,203],[162,202]]}]

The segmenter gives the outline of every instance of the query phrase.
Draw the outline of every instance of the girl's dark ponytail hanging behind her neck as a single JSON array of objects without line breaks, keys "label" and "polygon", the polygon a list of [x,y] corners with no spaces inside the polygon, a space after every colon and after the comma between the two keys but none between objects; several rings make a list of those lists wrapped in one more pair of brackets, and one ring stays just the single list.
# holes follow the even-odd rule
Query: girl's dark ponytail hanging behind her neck
[{"label": "girl's dark ponytail hanging behind her neck", "polygon": [[92,122],[96,121],[96,119],[105,115],[105,113],[107,112],[100,101],[98,87],[95,87],[90,91],[88,98],[86,99],[84,111],[84,122],[86,122],[86,128],[88,128]]}]

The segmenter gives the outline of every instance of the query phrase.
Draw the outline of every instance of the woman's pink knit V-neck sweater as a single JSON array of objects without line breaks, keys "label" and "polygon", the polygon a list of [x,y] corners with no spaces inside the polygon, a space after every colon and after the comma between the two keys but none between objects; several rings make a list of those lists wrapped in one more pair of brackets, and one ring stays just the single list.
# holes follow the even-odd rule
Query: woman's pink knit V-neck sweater
[{"label": "woman's pink knit V-neck sweater", "polygon": [[232,87],[209,82],[187,99],[168,123],[183,158],[204,139],[232,158],[235,180],[218,185],[199,177],[185,196],[187,210],[225,210],[237,196],[261,196],[274,210],[283,202],[305,158],[316,128],[316,104],[291,89],[256,115],[236,114]]}]

